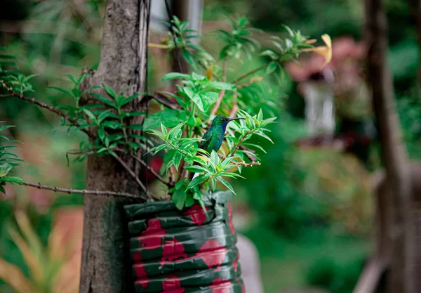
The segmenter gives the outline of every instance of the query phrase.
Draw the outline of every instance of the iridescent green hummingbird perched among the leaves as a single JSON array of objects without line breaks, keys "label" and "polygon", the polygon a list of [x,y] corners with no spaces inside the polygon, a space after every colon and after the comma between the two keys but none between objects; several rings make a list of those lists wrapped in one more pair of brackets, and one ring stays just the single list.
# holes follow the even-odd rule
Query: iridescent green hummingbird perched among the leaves
[{"label": "iridescent green hummingbird perched among the leaves", "polygon": [[[201,143],[199,143],[199,148],[202,150],[206,150],[209,154],[215,150],[215,152],[218,152],[218,150],[221,148],[222,141],[224,141],[225,137],[225,130],[227,129],[227,125],[229,122],[232,122],[233,120],[240,120],[245,119],[241,117],[236,118],[229,118],[225,117],[223,115],[217,115],[215,118],[213,118],[212,125],[208,129],[208,131],[203,134]],[[197,163],[195,163],[197,164]],[[190,180],[192,180],[194,177],[198,176],[198,174],[192,174],[190,176]]]}]

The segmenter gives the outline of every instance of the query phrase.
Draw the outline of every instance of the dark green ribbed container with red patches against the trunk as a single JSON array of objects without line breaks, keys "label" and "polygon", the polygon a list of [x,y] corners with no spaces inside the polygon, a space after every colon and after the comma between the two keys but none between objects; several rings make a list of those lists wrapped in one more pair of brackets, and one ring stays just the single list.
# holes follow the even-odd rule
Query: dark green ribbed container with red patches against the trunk
[{"label": "dark green ribbed container with red patches against the trunk", "polygon": [[135,292],[245,292],[231,200],[229,191],[209,195],[206,213],[171,201],[125,206]]}]

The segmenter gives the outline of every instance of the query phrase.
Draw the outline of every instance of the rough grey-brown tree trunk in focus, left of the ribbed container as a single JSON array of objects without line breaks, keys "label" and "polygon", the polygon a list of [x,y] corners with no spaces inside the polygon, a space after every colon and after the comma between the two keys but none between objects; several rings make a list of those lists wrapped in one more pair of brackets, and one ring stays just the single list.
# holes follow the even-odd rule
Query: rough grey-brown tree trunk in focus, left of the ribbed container
[{"label": "rough grey-brown tree trunk in focus, left of the ribbed container", "polygon": [[[149,8],[150,0],[107,1],[98,71],[85,80],[81,90],[105,83],[116,92],[126,89],[126,95],[142,93]],[[92,101],[86,96],[83,103]],[[140,98],[133,100],[126,110],[142,110]],[[122,159],[128,167],[139,171],[132,158]],[[88,158],[86,188],[140,194],[133,178],[114,158],[95,155]],[[85,197],[80,293],[133,292],[122,209],[123,204],[128,203],[125,198]]]}]

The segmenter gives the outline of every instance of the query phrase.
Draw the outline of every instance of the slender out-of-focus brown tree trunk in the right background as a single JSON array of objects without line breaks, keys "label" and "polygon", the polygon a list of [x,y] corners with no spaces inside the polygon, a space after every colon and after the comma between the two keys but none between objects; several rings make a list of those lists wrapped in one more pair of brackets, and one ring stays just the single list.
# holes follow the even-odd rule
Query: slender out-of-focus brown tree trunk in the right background
[{"label": "slender out-of-focus brown tree trunk in the right background", "polygon": [[[413,221],[411,221],[411,182],[406,147],[393,101],[392,77],[387,67],[387,22],[382,0],[366,0],[366,41],[368,44],[368,82],[373,91],[373,109],[380,135],[382,161],[385,164],[392,204],[392,240],[390,293],[416,293],[414,275]],[[386,213],[387,214],[387,213]]]}]

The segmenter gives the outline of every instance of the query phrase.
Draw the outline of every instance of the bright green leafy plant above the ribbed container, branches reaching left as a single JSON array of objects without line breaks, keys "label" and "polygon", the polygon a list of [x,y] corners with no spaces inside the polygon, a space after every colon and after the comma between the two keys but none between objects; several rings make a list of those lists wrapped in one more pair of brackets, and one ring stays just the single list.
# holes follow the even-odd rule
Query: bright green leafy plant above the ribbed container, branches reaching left
[{"label": "bright green leafy plant above the ribbed container, branches reaching left", "polygon": [[[26,100],[59,115],[62,126],[67,126],[68,131],[85,133],[89,141],[82,141],[78,150],[67,152],[67,155],[76,155],[79,162],[88,155],[111,155],[138,184],[145,197],[152,199],[149,190],[136,175],[136,170],[121,159],[121,155],[130,156],[168,186],[168,193],[173,195],[173,201],[179,209],[189,207],[196,201],[203,204],[203,196],[218,188],[217,183],[225,185],[234,193],[229,178],[241,177],[236,171],[241,173],[243,167],[260,164],[257,152],[265,150],[258,144],[248,142],[252,136],[260,136],[272,142],[268,136],[267,125],[274,123],[276,118],[264,119],[262,109],[249,103],[253,98],[265,99],[268,93],[265,91],[265,77],[273,72],[281,73],[283,62],[295,60],[305,51],[321,53],[324,50],[326,61],[330,59],[328,53],[331,46],[328,46],[328,42],[325,47],[314,48],[312,41],[302,36],[299,31],[295,32],[288,27],[286,29],[290,38],[272,37],[275,41],[271,40],[269,44],[274,48],[267,48],[259,53],[261,44],[254,39],[253,28],[248,20],[238,18],[229,19],[229,22],[232,26],[229,31],[215,32],[216,39],[222,41],[218,58],[222,65],[201,46],[194,44],[192,39],[198,37],[197,33],[187,29],[188,22],[178,18],[167,23],[171,32],[163,41],[163,45],[150,44],[152,47],[166,48],[168,51],[177,48],[177,51],[181,51],[182,58],[194,68],[192,74],[171,72],[164,75],[163,81],[181,80],[174,93],[152,93],[150,96],[135,93],[126,96],[125,89],[117,93],[107,84],[81,91],[81,84],[88,74],[83,73],[80,77],[64,74],[72,83],[72,87],[67,90],[52,86],[50,89],[71,98],[73,105],[53,107],[26,96],[33,91],[29,84],[29,79],[33,76],[25,77],[16,71],[16,59],[13,56],[3,56],[3,63],[0,63],[0,86],[6,91],[6,96]],[[325,41],[328,38],[326,36],[322,37]],[[269,58],[269,62],[227,82],[227,71],[232,62],[252,60],[258,56]],[[264,70],[263,76],[258,75],[260,70]],[[242,83],[243,79],[247,78],[250,78],[249,81]],[[83,97],[88,95],[94,102],[87,105],[81,103]],[[142,99],[151,98],[159,111],[148,117],[143,111],[127,110],[128,105],[135,100],[138,103]],[[175,100],[175,103],[170,102],[170,98]],[[240,106],[245,105],[246,109],[240,109]],[[203,130],[208,129],[211,120],[218,114],[238,116],[243,120],[229,125],[220,154],[215,151],[209,154],[199,148],[199,142],[202,140]],[[160,131],[157,130],[159,128]],[[145,136],[144,131],[148,131],[152,136]],[[165,152],[161,174],[151,169],[144,159],[147,153],[157,155],[159,152]],[[8,153],[7,159],[10,160],[11,156],[13,157]],[[11,167],[4,167],[4,174],[8,174],[9,171]],[[187,179],[189,172],[196,173],[192,181]],[[8,178],[7,182],[15,180],[15,183],[68,193],[136,196],[107,190],[56,188],[27,183],[20,178],[6,175],[4,178]],[[6,182],[6,179],[3,180]]]}]

